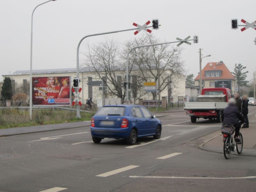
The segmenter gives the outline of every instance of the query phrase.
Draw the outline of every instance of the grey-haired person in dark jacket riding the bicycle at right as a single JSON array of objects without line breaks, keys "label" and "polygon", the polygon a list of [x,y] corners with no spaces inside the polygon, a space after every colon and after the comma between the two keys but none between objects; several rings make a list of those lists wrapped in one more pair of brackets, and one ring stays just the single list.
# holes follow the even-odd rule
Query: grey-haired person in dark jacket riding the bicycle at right
[{"label": "grey-haired person in dark jacket riding the bicycle at right", "polygon": [[239,120],[244,123],[244,117],[241,113],[239,113],[238,107],[236,105],[236,99],[230,98],[228,100],[228,107],[226,107],[223,110],[223,113],[221,115],[221,120],[223,124],[232,124],[235,127],[235,141],[240,142],[238,136],[239,136],[239,130],[241,127],[241,124],[239,123]]}]

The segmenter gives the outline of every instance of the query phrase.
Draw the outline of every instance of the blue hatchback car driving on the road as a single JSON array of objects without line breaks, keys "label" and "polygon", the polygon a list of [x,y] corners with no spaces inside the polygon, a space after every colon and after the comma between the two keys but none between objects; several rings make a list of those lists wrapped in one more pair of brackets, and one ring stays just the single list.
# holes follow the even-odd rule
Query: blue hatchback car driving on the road
[{"label": "blue hatchback car driving on the road", "polygon": [[140,105],[106,105],[91,121],[94,143],[100,143],[104,138],[125,138],[128,144],[133,145],[139,137],[159,139],[161,131],[161,121]]}]

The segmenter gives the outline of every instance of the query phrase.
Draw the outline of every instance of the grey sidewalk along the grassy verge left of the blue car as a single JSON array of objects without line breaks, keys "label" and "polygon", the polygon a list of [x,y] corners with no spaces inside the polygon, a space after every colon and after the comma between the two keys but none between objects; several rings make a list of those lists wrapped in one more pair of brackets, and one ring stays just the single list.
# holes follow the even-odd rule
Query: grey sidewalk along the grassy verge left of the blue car
[{"label": "grey sidewalk along the grassy verge left of the blue car", "polygon": [[47,124],[47,125],[36,125],[29,127],[17,127],[17,128],[7,128],[0,129],[0,137],[12,136],[12,135],[20,135],[26,133],[36,133],[36,132],[46,132],[46,131],[54,131],[61,129],[71,129],[76,127],[85,127],[91,124],[90,121],[79,121],[72,123],[60,123],[60,124]]}]

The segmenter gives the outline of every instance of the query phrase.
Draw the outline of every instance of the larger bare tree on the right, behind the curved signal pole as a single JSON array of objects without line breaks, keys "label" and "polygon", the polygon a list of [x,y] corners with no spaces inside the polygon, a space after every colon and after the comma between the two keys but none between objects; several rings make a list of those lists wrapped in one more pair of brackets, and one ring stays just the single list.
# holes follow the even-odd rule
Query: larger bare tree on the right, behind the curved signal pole
[{"label": "larger bare tree on the right, behind the curved signal pole", "polygon": [[[144,34],[138,39],[125,42],[123,57],[135,46],[160,43],[160,39],[152,34]],[[152,92],[153,99],[172,82],[173,87],[185,73],[184,63],[181,61],[180,48],[170,44],[141,47],[133,50],[129,55],[129,70],[135,70],[141,83],[154,81],[158,84],[159,92]],[[141,86],[142,84],[140,84]],[[160,99],[160,98],[159,98]]]}]

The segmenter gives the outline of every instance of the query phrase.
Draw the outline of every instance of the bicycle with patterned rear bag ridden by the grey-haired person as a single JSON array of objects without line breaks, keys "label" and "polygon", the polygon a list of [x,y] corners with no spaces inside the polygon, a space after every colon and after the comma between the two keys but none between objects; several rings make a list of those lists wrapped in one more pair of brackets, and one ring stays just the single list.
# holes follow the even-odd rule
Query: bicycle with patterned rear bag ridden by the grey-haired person
[{"label": "bicycle with patterned rear bag ridden by the grey-haired person", "polygon": [[[236,142],[236,146],[233,142],[233,133],[235,132],[235,127],[233,125],[228,125],[229,127],[226,127],[225,132],[223,133],[223,153],[226,159],[229,159],[231,151],[236,151],[238,154],[242,153],[243,150],[243,135],[241,132],[239,132],[238,138],[240,142]],[[241,126],[241,125],[240,125]],[[223,127],[223,126],[222,126]],[[222,130],[222,128],[221,128]]]}]

